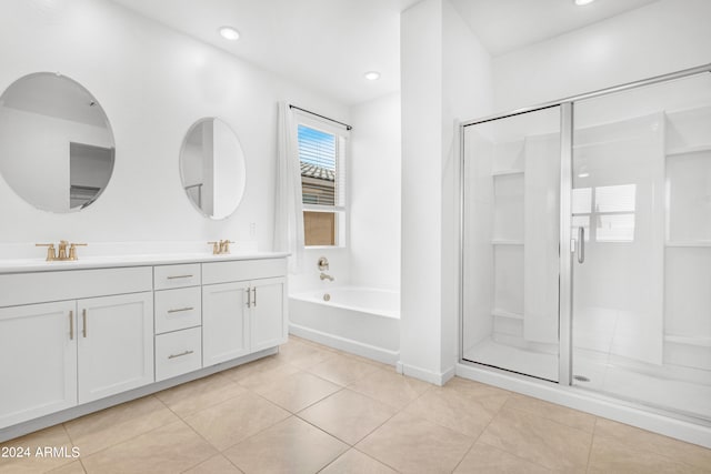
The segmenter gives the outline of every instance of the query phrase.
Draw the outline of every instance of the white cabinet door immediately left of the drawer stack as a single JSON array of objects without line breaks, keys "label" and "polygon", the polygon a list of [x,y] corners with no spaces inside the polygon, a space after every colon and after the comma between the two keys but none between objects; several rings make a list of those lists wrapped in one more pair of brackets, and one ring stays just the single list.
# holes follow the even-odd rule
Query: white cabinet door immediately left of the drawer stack
[{"label": "white cabinet door immediately left of the drawer stack", "polygon": [[79,403],[153,382],[153,293],[79,300]]}]

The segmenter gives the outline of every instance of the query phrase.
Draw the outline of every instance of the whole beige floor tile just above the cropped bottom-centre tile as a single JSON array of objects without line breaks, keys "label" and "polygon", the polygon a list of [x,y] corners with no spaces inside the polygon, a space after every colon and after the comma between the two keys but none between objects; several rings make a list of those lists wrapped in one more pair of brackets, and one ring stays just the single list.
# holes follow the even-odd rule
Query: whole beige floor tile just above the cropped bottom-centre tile
[{"label": "whole beige floor tile just above the cropped bottom-centre tile", "polygon": [[299,416],[352,445],[395,413],[390,405],[343,389],[300,412]]}]

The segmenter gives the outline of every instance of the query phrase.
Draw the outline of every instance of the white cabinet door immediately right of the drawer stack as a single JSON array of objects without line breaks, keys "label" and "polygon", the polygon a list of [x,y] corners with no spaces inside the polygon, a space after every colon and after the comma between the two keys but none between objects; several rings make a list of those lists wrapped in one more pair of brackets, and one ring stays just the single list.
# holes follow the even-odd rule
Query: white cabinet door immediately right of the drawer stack
[{"label": "white cabinet door immediately right of the drawer stack", "polygon": [[208,367],[249,351],[248,282],[202,286],[202,365]]}]

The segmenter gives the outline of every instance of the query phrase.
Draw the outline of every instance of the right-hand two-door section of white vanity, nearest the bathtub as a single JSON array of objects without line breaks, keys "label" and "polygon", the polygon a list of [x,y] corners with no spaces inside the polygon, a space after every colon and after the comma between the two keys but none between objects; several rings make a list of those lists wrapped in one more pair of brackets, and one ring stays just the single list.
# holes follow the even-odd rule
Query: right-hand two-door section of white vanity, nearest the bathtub
[{"label": "right-hand two-door section of white vanity, nearest the bathtub", "polygon": [[264,259],[203,263],[203,365],[287,341],[287,262]]}]

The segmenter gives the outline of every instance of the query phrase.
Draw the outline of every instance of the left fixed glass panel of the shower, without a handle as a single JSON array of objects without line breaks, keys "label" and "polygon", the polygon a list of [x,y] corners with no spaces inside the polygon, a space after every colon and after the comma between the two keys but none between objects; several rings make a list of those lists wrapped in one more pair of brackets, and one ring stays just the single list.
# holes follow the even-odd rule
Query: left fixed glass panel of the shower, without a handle
[{"label": "left fixed glass panel of the shower, without a handle", "polygon": [[558,381],[560,107],[464,127],[462,356]]}]

